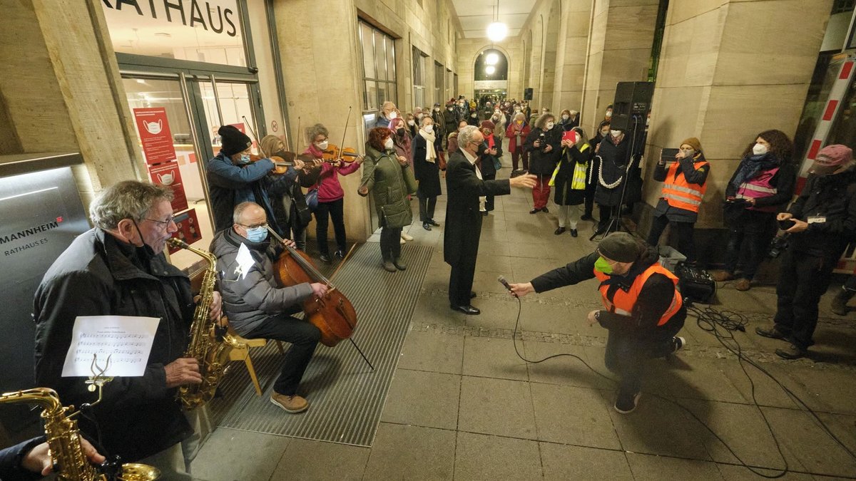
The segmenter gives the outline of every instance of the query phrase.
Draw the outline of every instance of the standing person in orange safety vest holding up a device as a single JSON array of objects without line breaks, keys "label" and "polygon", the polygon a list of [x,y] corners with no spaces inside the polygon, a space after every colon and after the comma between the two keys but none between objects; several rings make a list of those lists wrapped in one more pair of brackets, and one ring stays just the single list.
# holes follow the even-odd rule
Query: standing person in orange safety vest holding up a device
[{"label": "standing person in orange safety vest holding up a device", "polygon": [[687,256],[687,262],[695,261],[693,227],[698,220],[698,206],[707,190],[707,175],[710,165],[704,160],[701,142],[690,137],[681,142],[681,150],[675,162],[666,166],[661,159],[654,169],[654,180],[663,182],[663,196],[654,211],[648,243],[657,246],[666,225],[678,237],[678,251]]}]

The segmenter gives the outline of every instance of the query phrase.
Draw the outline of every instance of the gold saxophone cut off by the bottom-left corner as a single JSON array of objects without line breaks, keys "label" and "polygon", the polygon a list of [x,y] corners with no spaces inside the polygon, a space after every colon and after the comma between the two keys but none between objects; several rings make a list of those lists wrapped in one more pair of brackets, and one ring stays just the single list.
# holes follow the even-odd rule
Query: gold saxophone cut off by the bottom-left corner
[{"label": "gold saxophone cut off by the bottom-left corner", "polygon": [[[99,472],[86,458],[80,447],[80,431],[74,415],[69,413],[74,406],[62,407],[56,391],[48,388],[33,388],[0,395],[2,403],[38,404],[44,407],[42,419],[45,419],[45,435],[48,439],[51,460],[57,469],[56,479],[62,481],[110,481],[104,472]],[[58,466],[58,468],[57,468]],[[122,465],[118,479],[125,481],[152,481],[160,477],[157,468],[138,463]]]}]

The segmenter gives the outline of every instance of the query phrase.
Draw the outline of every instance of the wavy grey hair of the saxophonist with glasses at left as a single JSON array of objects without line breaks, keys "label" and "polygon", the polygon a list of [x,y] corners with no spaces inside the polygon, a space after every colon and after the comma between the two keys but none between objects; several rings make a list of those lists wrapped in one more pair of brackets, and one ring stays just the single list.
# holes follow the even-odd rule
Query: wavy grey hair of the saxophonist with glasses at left
[{"label": "wavy grey hair of the saxophonist with glasses at left", "polygon": [[163,200],[171,202],[172,189],[149,182],[122,181],[104,189],[89,206],[89,217],[95,227],[116,229],[122,219],[140,222]]}]

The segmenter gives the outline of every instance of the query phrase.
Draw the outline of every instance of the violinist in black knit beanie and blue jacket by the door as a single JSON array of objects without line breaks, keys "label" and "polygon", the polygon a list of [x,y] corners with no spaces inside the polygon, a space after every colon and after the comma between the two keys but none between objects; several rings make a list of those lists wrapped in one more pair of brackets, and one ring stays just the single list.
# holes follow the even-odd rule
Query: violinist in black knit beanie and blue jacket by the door
[{"label": "violinist in black knit beanie and blue jacket by the door", "polygon": [[[284,235],[283,227],[276,223],[268,190],[276,189],[274,184],[288,182],[288,179],[284,175],[268,175],[276,169],[276,164],[268,158],[253,162],[250,153],[253,141],[247,134],[231,125],[219,128],[217,134],[220,134],[222,146],[205,169],[214,213],[214,231],[229,229],[235,205],[255,202],[265,209],[270,227],[277,234]],[[300,160],[295,160],[294,164],[297,169],[304,167]]]}]

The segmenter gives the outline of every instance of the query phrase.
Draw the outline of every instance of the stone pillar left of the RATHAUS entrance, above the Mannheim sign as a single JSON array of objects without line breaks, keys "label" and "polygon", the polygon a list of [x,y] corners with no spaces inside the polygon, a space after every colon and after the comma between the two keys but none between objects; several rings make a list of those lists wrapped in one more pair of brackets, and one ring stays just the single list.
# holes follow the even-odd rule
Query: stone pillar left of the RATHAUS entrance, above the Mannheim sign
[{"label": "stone pillar left of the RATHAUS entrance, above the Mannheim sign", "polygon": [[117,181],[146,178],[98,3],[21,0],[4,8],[6,30],[0,58],[10,72],[0,79],[5,99],[3,135],[10,151],[80,151],[80,192]]}]

